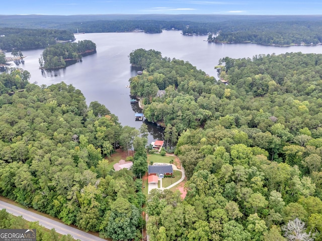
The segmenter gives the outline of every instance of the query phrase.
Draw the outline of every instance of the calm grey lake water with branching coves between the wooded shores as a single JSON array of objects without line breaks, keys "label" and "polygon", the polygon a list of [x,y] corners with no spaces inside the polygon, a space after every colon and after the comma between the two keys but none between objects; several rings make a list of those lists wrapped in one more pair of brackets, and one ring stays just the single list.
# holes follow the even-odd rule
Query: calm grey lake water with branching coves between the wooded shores
[{"label": "calm grey lake water with branching coves between the wooded shores", "polygon": [[[276,47],[256,44],[214,44],[208,43],[208,36],[183,36],[180,31],[164,31],[161,34],[145,33],[94,33],[75,35],[76,41],[91,40],[97,45],[97,53],[83,57],[83,61],[65,69],[42,74],[38,59],[43,50],[23,51],[25,63],[19,67],[31,73],[30,82],[51,85],[61,81],[80,89],[87,103],[99,101],[119,117],[122,126],[139,128],[142,122],[135,122],[134,113],[140,112],[137,105],[130,104],[130,77],[136,75],[128,55],[135,49],[154,49],[163,57],[189,61],[197,69],[217,77],[214,66],[220,58],[252,58],[259,54],[281,54],[286,52],[322,53],[319,46]],[[7,53],[10,56],[10,53]],[[163,139],[162,128],[147,124],[149,143]]]}]

